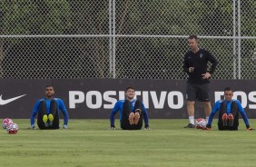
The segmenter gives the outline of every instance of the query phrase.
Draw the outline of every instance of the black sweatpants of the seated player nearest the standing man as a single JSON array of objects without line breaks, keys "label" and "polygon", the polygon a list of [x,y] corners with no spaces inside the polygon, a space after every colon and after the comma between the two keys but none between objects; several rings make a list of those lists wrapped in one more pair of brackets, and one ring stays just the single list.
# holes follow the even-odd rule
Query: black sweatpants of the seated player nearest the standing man
[{"label": "black sweatpants of the seated player nearest the standing man", "polygon": [[[230,130],[230,131],[238,130],[239,111],[238,111],[237,103],[231,102],[231,113],[234,117],[234,122],[233,122],[232,126],[223,126],[222,115],[224,113],[227,113],[227,103],[226,102],[221,103],[220,113],[219,113],[219,121],[218,121],[219,130],[221,130],[221,131],[223,131],[223,130]],[[229,121],[228,121],[228,125],[229,125]]]}]

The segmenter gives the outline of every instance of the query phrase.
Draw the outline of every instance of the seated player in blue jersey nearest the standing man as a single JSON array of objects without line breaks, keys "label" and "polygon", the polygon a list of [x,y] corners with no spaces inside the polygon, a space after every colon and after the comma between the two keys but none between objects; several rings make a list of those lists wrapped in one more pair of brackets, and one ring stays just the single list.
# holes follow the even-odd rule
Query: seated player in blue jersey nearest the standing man
[{"label": "seated player in blue jersey nearest the standing man", "polygon": [[218,127],[219,130],[230,130],[235,131],[238,130],[239,125],[239,113],[241,113],[243,122],[246,125],[247,131],[253,130],[250,127],[248,118],[246,113],[244,112],[240,101],[232,99],[233,91],[231,87],[226,87],[224,89],[224,100],[219,100],[215,103],[212,113],[209,116],[208,123],[206,125],[206,129],[210,130],[212,126],[212,119],[215,113],[219,111],[219,120]]}]

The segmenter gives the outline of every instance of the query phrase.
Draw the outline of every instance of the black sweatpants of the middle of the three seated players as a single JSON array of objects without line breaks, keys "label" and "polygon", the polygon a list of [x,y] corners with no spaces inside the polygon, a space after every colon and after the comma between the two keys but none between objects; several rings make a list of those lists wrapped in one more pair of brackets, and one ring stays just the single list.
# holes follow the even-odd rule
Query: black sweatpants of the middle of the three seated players
[{"label": "black sweatpants of the middle of the three seated players", "polygon": [[[130,124],[129,122],[129,114],[134,113],[136,109],[140,109],[142,112],[140,114],[140,120],[138,124]],[[123,130],[140,130],[143,127],[143,104],[140,100],[137,100],[134,105],[134,111],[131,108],[131,102],[125,100],[123,103],[123,113],[122,113],[122,121],[121,128]]]}]

